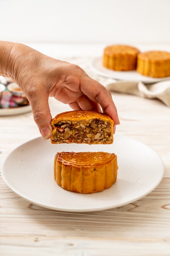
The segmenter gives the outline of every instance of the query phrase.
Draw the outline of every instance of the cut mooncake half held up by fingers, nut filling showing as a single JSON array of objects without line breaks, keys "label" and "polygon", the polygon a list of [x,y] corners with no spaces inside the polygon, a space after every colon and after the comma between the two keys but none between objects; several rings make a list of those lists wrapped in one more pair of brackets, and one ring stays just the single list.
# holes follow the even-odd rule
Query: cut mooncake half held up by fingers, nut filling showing
[{"label": "cut mooncake half held up by fingers, nut filling showing", "polygon": [[87,110],[63,112],[52,120],[52,144],[113,143],[113,120],[103,114]]}]

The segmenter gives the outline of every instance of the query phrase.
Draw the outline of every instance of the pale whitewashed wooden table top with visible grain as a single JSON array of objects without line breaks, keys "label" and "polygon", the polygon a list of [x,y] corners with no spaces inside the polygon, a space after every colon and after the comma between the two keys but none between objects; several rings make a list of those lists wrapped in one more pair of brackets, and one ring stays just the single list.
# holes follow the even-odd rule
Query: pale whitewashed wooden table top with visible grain
[{"label": "pale whitewashed wooden table top with visible grain", "polygon": [[[89,70],[89,58],[67,60],[105,81]],[[118,93],[112,96],[120,119],[116,133],[147,144],[162,158],[165,173],[159,186],[122,207],[70,213],[27,202],[0,177],[0,255],[170,255],[170,108],[157,99]],[[61,109],[70,110],[52,98],[49,104],[53,117]],[[0,117],[0,166],[11,150],[38,136],[32,112]]]}]

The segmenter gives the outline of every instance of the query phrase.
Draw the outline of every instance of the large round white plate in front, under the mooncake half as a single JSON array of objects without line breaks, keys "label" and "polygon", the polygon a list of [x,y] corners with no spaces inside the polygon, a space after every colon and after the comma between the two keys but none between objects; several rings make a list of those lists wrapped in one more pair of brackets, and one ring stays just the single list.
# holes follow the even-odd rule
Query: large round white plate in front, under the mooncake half
[{"label": "large round white plate in front, under the mooncake half", "polygon": [[[105,151],[118,156],[118,178],[110,189],[81,194],[62,189],[53,178],[54,155],[61,151]],[[159,155],[139,141],[114,136],[111,145],[51,144],[41,137],[13,150],[2,165],[2,177],[20,197],[58,211],[111,209],[144,197],[159,184],[164,165]]]}]

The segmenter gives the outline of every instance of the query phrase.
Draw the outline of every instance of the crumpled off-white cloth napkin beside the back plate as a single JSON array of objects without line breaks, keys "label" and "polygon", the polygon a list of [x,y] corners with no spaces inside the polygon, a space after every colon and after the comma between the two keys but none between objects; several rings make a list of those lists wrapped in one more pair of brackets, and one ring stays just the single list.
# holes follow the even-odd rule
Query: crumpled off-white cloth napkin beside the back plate
[{"label": "crumpled off-white cloth napkin beside the back plate", "polygon": [[170,80],[160,81],[153,84],[142,82],[107,80],[105,87],[111,92],[134,94],[148,99],[159,99],[170,107]]}]

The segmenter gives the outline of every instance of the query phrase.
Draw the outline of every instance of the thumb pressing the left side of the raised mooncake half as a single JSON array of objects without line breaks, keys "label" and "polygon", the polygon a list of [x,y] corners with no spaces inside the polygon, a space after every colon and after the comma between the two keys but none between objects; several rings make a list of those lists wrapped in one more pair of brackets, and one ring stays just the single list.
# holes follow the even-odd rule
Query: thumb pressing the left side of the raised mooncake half
[{"label": "thumb pressing the left side of the raised mooncake half", "polygon": [[48,93],[36,92],[29,99],[33,111],[34,121],[37,124],[43,139],[49,139],[52,135],[52,116],[48,105]]}]

